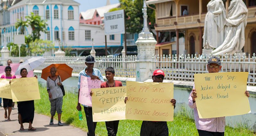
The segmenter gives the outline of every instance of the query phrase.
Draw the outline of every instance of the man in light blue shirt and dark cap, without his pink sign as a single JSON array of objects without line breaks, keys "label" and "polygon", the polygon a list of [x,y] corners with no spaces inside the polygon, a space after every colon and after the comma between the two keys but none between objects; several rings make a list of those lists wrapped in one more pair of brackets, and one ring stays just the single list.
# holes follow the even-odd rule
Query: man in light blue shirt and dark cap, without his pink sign
[{"label": "man in light blue shirt and dark cap, without his pink sign", "polygon": [[[78,75],[78,102],[77,102],[77,106],[76,106],[76,109],[78,111],[81,111],[81,109],[82,109],[81,105],[79,103],[81,76],[90,77],[92,80],[98,79],[98,80],[104,81],[104,79],[101,75],[101,72],[97,68],[93,68],[94,63],[95,63],[95,60],[94,60],[93,56],[91,56],[91,55],[86,56],[86,58],[85,58],[86,67]],[[84,106],[84,112],[86,115],[86,121],[87,121],[87,127],[88,127],[87,135],[95,136],[95,129],[96,129],[97,122],[92,121],[92,107],[87,106],[87,105],[82,105],[82,106]]]}]

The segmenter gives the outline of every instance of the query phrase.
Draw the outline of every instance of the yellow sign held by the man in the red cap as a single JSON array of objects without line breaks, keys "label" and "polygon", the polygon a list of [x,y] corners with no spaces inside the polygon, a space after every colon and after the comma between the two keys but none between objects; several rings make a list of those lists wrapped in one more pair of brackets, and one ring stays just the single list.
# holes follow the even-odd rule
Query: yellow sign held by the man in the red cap
[{"label": "yellow sign held by the man in the red cap", "polygon": [[173,121],[173,83],[126,82],[126,119]]}]

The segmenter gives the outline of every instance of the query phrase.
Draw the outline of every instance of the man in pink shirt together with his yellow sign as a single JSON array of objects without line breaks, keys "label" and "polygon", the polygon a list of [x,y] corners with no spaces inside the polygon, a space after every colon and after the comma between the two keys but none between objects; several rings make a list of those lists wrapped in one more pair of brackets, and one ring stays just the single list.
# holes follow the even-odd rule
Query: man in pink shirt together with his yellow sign
[{"label": "man in pink shirt together with his yellow sign", "polygon": [[[194,75],[195,85],[189,96],[188,104],[194,109],[195,124],[200,136],[224,136],[225,116],[250,112],[247,98],[250,94],[248,91],[243,93],[243,88],[246,89],[248,74],[242,72],[218,73],[221,67],[220,59],[214,56],[208,60],[207,74]],[[231,76],[231,74],[233,75]],[[236,78],[235,74],[241,76]],[[245,96],[243,96],[244,94]],[[239,104],[232,105],[232,103],[234,104],[232,101],[237,99],[240,99]],[[246,108],[243,111],[237,107]]]}]

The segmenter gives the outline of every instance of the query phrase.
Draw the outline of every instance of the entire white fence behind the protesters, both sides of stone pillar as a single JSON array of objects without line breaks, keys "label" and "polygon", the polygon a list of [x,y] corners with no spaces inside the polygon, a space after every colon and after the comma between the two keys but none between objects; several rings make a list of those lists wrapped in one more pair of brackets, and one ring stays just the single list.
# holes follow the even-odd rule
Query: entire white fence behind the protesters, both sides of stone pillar
[{"label": "entire white fence behind the protesters, both sides of stone pillar", "polygon": [[[194,81],[195,73],[207,73],[207,61],[210,56],[199,55],[168,55],[168,56],[152,56],[153,67],[155,69],[162,69],[166,74],[166,79]],[[30,57],[10,57],[13,63],[18,63],[20,59],[26,60]],[[65,57],[45,57],[47,60],[44,64],[40,65],[37,70],[42,70],[50,64],[65,63],[73,68],[73,72],[79,73],[85,67],[85,56],[65,56]],[[222,55],[219,56],[222,64],[222,72],[249,72],[248,85],[256,84],[256,56],[244,55]],[[117,56],[106,57],[97,56],[95,68],[98,68],[101,73],[105,74],[107,67],[115,68],[115,76],[117,77],[136,77],[136,55],[132,56]]]}]

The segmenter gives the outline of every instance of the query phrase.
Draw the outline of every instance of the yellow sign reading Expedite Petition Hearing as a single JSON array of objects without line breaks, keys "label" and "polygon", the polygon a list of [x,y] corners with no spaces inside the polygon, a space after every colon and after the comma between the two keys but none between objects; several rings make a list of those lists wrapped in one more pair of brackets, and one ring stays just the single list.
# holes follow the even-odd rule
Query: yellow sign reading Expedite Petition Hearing
[{"label": "yellow sign reading Expedite Petition Hearing", "polygon": [[125,119],[126,86],[91,90],[93,122]]}]

